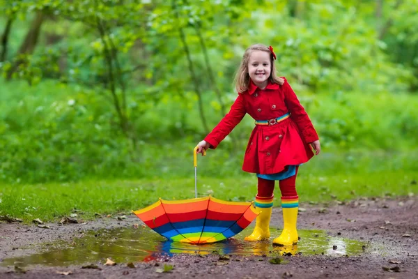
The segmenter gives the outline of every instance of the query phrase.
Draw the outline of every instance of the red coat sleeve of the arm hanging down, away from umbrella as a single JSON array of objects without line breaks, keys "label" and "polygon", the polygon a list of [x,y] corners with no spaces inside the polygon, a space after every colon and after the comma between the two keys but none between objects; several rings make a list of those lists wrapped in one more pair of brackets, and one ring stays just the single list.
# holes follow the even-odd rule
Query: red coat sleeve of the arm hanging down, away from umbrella
[{"label": "red coat sleeve of the arm hanging down, away from umbrella", "polygon": [[309,119],[307,112],[304,110],[304,107],[300,104],[295,92],[293,91],[291,84],[284,80],[283,84],[284,89],[284,101],[288,107],[289,112],[291,112],[291,119],[295,121],[297,127],[302,132],[302,137],[304,137],[305,142],[311,143],[319,140],[318,134],[314,128],[314,125]]}]

